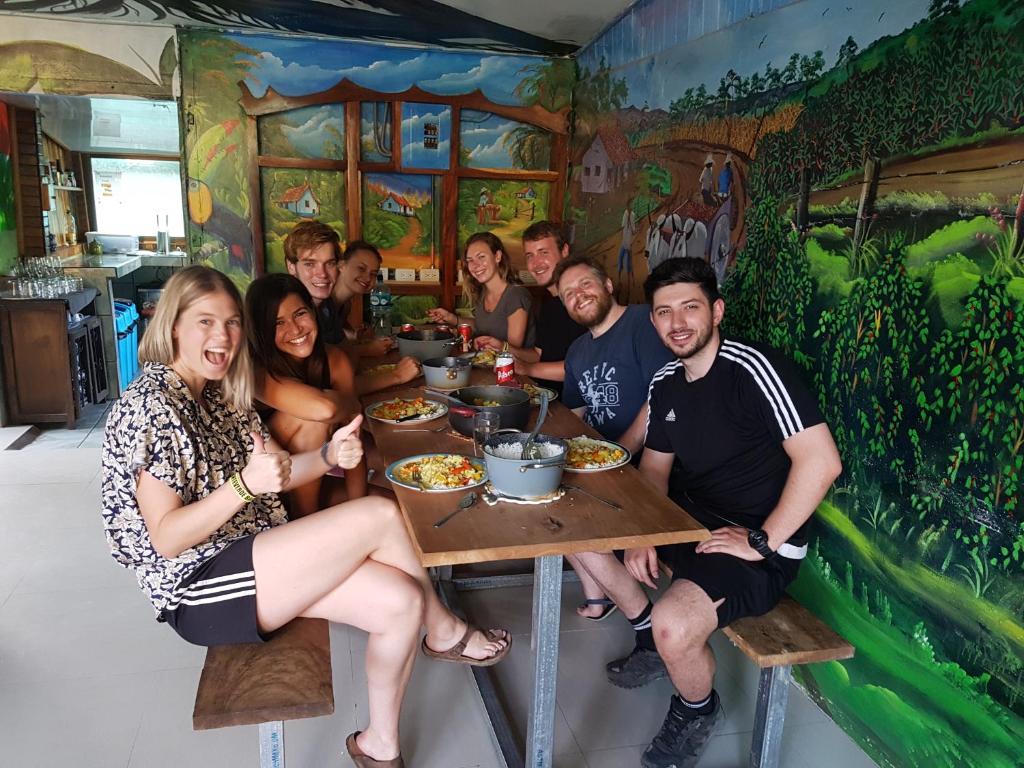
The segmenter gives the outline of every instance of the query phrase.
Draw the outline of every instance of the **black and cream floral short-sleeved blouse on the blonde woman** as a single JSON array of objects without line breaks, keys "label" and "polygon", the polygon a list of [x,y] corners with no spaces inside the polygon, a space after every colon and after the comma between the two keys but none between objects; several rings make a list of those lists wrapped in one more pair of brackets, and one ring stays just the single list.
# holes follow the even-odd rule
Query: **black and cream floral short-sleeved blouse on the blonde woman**
[{"label": "black and cream floral short-sleeved blouse on the blonde woman", "polygon": [[150,541],[135,500],[140,470],[174,490],[188,505],[220,487],[243,469],[251,431],[266,430],[255,412],[240,412],[208,385],[206,408],[170,367],[148,362],[111,409],[103,434],[102,515],[114,559],[132,568],[157,615],[180,600],[181,581],[232,542],[287,521],[275,494],[245,505],[206,541],[169,559]]}]

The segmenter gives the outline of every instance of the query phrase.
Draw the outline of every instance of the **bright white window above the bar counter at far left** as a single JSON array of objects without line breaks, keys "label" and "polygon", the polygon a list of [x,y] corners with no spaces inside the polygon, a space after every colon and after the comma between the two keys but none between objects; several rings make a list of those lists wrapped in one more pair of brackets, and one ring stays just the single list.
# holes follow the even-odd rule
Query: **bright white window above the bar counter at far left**
[{"label": "bright white window above the bar counter at far left", "polygon": [[155,234],[166,216],[171,237],[184,237],[178,161],[93,158],[92,188],[96,231]]}]

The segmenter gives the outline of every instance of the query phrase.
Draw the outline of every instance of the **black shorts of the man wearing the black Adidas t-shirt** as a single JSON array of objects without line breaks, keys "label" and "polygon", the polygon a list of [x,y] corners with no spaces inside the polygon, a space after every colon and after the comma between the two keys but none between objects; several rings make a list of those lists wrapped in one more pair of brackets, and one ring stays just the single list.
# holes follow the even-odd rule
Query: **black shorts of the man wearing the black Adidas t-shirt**
[{"label": "black shorts of the man wearing the black Adidas t-shirt", "polygon": [[693,582],[715,602],[725,598],[718,606],[719,628],[774,608],[797,578],[802,562],[781,555],[753,562],[714,552],[698,554],[696,547],[663,545],[657,547],[657,557],[672,568],[673,582]]}]

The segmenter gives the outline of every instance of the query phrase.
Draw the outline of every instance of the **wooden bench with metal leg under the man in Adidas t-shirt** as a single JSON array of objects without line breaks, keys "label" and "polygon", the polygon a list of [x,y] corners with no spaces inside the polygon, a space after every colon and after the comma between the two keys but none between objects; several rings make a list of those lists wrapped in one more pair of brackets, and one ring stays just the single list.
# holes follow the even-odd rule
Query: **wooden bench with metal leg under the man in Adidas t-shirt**
[{"label": "wooden bench with metal leg under the man in Adidas t-shirt", "polygon": [[722,631],[761,668],[750,765],[775,768],[794,665],[853,658],[853,646],[788,596],[764,615],[737,620]]}]

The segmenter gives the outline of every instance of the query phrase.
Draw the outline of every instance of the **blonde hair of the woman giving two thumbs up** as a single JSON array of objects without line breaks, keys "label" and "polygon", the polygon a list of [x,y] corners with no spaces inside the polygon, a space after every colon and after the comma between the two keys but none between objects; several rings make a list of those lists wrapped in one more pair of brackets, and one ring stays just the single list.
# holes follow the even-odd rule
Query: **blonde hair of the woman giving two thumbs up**
[{"label": "blonde hair of the woman giving two thumbs up", "polygon": [[[239,289],[216,269],[189,266],[173,274],[164,286],[164,293],[157,302],[157,310],[138,345],[139,362],[173,365],[178,356],[174,325],[183,311],[213,293],[226,293],[239,308],[239,317],[245,316]],[[220,386],[224,400],[229,406],[239,411],[249,411],[252,408],[253,370],[244,337]]]}]

